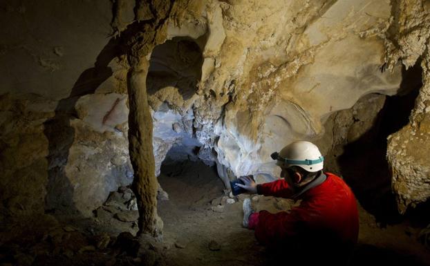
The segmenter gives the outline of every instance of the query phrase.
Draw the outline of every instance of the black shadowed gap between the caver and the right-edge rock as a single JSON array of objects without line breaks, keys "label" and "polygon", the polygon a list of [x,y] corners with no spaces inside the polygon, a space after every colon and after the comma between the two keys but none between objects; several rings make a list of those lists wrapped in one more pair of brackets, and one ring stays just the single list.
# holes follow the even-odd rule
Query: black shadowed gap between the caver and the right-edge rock
[{"label": "black shadowed gap between the caver and the right-edge rock", "polygon": [[400,222],[395,196],[391,191],[391,173],[386,160],[386,137],[409,123],[409,115],[422,86],[420,62],[402,69],[398,95],[386,97],[373,127],[359,140],[345,146],[338,162],[341,173],[366,211],[377,222]]}]

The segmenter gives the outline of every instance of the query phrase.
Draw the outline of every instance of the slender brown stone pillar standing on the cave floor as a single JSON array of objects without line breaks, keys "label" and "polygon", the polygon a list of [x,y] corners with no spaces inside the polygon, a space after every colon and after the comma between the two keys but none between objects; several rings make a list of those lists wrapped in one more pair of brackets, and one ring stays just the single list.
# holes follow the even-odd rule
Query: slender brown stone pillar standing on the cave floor
[{"label": "slender brown stone pillar standing on the cave floor", "polygon": [[146,77],[149,62],[140,59],[129,70],[129,150],[134,169],[133,191],[139,207],[139,232],[160,237],[162,220],[157,214],[155,160],[152,147],[152,118],[147,99]]}]

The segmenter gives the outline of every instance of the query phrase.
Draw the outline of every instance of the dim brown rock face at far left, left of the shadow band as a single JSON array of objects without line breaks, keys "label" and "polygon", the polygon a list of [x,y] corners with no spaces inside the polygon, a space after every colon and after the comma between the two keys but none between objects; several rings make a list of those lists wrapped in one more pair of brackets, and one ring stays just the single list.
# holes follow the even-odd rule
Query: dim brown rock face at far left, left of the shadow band
[{"label": "dim brown rock face at far left, left of the shadow band", "polygon": [[44,121],[53,116],[41,97],[0,97],[0,195],[14,214],[44,211],[48,184],[48,140]]}]

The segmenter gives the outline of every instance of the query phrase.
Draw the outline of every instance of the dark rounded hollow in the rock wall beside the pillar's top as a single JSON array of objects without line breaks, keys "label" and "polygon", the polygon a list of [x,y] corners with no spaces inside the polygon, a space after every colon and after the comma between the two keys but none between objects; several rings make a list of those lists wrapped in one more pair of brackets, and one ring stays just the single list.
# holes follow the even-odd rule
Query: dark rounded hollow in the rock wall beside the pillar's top
[{"label": "dark rounded hollow in the rock wall beside the pillar's top", "polygon": [[183,99],[196,93],[203,65],[200,38],[174,37],[153,49],[147,75],[148,95],[167,86],[178,88]]}]

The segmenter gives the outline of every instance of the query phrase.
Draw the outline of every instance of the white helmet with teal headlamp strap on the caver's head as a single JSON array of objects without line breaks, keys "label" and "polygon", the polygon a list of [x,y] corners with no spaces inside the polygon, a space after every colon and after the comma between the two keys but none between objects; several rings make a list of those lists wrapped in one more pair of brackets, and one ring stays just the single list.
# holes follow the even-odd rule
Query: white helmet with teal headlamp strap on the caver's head
[{"label": "white helmet with teal headlamp strap on the caver's head", "polygon": [[317,172],[323,169],[324,157],[318,147],[311,142],[292,142],[285,146],[280,153],[270,155],[277,160],[277,165],[282,168],[297,165],[308,172]]}]

